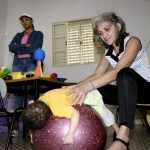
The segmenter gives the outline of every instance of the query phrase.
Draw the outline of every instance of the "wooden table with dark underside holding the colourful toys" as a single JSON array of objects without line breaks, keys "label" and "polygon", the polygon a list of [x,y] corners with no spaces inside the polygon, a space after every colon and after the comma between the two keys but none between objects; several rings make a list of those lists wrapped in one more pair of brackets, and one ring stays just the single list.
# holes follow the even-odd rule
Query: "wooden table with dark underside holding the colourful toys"
[{"label": "wooden table with dark underside holding the colourful toys", "polygon": [[40,93],[70,85],[70,83],[44,77],[5,80],[5,82],[7,84],[8,93],[24,95],[25,99],[27,99],[27,95],[34,95],[35,100],[38,99]]}]

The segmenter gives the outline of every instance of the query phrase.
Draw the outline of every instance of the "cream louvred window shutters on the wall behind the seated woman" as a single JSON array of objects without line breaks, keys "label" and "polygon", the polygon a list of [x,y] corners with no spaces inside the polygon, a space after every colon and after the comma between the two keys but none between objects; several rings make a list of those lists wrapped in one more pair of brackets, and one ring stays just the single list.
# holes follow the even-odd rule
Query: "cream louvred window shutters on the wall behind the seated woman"
[{"label": "cream louvred window shutters on the wall behind the seated woman", "polygon": [[92,19],[53,24],[53,64],[57,66],[98,62],[103,46],[93,42]]}]

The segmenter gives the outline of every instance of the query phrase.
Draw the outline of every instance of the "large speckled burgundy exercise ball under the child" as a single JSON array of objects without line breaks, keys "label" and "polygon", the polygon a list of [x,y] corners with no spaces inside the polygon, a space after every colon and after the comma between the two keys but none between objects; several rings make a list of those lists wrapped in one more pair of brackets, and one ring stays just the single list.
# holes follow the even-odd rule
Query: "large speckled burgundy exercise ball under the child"
[{"label": "large speckled burgundy exercise ball under the child", "polygon": [[33,132],[35,150],[103,150],[107,131],[101,119],[89,106],[75,106],[80,112],[80,123],[75,133],[75,143],[64,145],[70,120],[51,116],[45,127]]}]

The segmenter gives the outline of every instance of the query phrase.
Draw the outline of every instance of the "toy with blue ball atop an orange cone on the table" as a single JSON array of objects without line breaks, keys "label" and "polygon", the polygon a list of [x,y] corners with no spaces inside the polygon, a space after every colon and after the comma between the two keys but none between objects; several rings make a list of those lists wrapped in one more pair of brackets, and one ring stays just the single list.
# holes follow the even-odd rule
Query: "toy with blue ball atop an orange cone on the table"
[{"label": "toy with blue ball atop an orange cone on the table", "polygon": [[43,77],[43,72],[41,68],[41,61],[45,59],[45,52],[38,48],[34,52],[34,59],[37,61],[37,67],[34,76],[35,77]]}]

